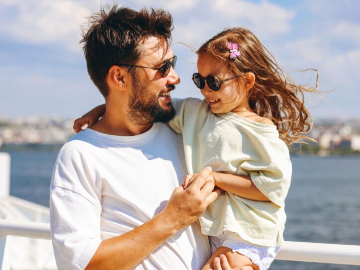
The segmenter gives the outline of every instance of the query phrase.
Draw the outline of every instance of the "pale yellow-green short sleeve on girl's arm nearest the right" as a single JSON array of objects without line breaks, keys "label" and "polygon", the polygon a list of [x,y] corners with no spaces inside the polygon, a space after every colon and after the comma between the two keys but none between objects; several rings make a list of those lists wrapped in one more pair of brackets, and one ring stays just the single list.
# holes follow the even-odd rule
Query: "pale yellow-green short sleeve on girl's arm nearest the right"
[{"label": "pale yellow-green short sleeve on girl's arm nearest the right", "polygon": [[[280,140],[280,139],[279,139]],[[288,149],[281,143],[276,147],[265,147],[260,153],[260,160],[248,160],[241,164],[240,171],[246,171],[256,187],[280,207],[284,207],[285,198],[290,187],[291,161]]]}]

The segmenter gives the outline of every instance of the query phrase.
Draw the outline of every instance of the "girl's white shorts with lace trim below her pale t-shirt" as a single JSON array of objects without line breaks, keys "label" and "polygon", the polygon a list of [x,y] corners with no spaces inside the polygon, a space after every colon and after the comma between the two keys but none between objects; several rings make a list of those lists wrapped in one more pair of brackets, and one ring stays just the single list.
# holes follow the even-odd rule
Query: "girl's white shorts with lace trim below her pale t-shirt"
[{"label": "girl's white shorts with lace trim below her pale t-shirt", "polygon": [[233,252],[240,253],[248,257],[253,264],[257,265],[260,270],[268,270],[272,261],[275,259],[280,247],[257,246],[239,241],[241,238],[233,232],[223,232],[221,235],[210,236],[211,254],[219,247],[226,247]]}]

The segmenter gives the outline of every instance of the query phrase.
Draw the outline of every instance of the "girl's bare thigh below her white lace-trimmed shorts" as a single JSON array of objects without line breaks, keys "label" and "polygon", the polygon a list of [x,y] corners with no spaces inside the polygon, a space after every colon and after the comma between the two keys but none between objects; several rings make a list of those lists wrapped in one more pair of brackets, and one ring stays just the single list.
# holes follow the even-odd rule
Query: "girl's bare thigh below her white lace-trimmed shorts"
[{"label": "girl's bare thigh below her white lace-trimmed shorts", "polygon": [[240,253],[237,252],[232,252],[231,249],[225,247],[219,247],[210,257],[210,259],[207,261],[207,263],[202,268],[202,270],[213,269],[214,259],[216,257],[219,257],[220,254],[224,254],[226,256],[229,265],[232,269],[239,268],[241,270],[259,270],[259,267],[257,265],[254,265],[253,262],[248,257],[241,255]]}]

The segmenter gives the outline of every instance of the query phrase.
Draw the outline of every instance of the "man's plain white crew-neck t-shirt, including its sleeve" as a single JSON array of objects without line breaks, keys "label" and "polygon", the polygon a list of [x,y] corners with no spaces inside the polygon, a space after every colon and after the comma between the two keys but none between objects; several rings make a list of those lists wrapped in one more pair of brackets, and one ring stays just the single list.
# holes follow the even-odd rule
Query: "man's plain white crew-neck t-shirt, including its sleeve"
[{"label": "man's plain white crew-neck t-shirt, including its sleeve", "polygon": [[[59,152],[50,186],[58,269],[84,269],[102,240],[153,218],[185,175],[182,138],[166,124],[136,136],[75,135]],[[201,269],[209,257],[208,238],[193,224],[135,269]]]}]

